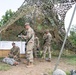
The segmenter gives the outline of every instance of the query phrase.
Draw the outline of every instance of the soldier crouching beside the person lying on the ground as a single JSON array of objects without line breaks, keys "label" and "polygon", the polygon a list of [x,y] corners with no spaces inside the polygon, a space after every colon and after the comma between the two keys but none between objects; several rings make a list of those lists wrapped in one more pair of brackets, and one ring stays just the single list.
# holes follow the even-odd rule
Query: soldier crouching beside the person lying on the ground
[{"label": "soldier crouching beside the person lying on the ground", "polygon": [[12,43],[12,48],[10,53],[8,54],[9,58],[14,58],[16,61],[20,61],[20,48],[15,45],[15,43]]}]

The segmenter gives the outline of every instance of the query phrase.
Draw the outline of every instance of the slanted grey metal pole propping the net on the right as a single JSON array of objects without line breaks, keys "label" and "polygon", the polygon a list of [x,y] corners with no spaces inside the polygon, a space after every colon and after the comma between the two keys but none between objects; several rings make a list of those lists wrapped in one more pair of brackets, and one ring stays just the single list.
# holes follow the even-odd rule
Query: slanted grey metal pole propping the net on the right
[{"label": "slanted grey metal pole propping the net on the right", "polygon": [[63,44],[62,44],[60,53],[59,53],[58,60],[57,60],[57,62],[56,62],[56,64],[55,64],[54,71],[57,69],[57,67],[58,67],[58,65],[59,65],[59,61],[60,61],[60,58],[61,58],[61,55],[62,55],[64,46],[65,46],[65,43],[66,43],[66,39],[67,39],[68,33],[69,33],[69,31],[70,31],[70,27],[71,27],[71,25],[72,25],[72,21],[73,21],[73,17],[74,17],[75,11],[76,11],[76,3],[75,3],[75,7],[74,7],[74,10],[73,10],[73,13],[72,13],[72,17],[71,17],[71,20],[70,20],[70,23],[69,23],[69,26],[68,26],[68,29],[67,29],[67,32],[66,32],[66,35],[65,35],[65,38],[64,38],[64,41],[63,41]]}]

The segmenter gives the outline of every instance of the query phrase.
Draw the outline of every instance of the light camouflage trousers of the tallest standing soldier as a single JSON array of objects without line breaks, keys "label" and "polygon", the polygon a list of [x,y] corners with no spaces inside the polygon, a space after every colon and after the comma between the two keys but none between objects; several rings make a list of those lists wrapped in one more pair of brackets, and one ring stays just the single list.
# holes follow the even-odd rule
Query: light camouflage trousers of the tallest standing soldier
[{"label": "light camouflage trousers of the tallest standing soldier", "polygon": [[26,46],[27,62],[33,63],[33,47],[34,47],[33,43],[28,43],[27,46]]}]

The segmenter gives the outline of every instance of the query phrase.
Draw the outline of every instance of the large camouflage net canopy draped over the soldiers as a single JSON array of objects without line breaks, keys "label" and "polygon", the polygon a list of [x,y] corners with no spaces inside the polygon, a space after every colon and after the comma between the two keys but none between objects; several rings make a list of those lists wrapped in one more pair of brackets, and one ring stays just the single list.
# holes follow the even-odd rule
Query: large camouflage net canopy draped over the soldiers
[{"label": "large camouflage net canopy draped over the soldiers", "polygon": [[[24,30],[17,22],[23,18],[23,24],[29,22],[42,39],[45,29],[53,36],[53,43],[61,45],[65,35],[64,23],[54,11],[52,0],[25,0],[13,17],[0,28],[2,40],[20,40],[17,35]],[[69,43],[67,43],[68,45]]]}]

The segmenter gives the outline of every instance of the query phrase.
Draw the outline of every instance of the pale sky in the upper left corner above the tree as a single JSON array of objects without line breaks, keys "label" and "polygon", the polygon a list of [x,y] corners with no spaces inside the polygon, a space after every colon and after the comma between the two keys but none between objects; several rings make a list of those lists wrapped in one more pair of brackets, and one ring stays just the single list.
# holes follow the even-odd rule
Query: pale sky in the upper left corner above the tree
[{"label": "pale sky in the upper left corner above the tree", "polygon": [[9,9],[16,11],[24,0],[0,0],[0,19]]}]

